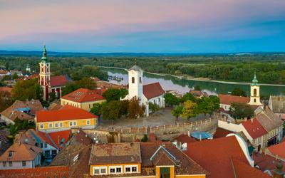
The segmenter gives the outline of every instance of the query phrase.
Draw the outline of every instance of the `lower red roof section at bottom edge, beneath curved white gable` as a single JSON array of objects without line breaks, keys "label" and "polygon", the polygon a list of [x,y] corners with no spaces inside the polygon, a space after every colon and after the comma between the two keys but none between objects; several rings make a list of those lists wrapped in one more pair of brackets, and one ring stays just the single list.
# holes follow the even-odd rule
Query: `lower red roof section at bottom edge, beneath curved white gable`
[{"label": "lower red roof section at bottom edge, beneath curved white gable", "polygon": [[237,178],[270,178],[269,174],[261,172],[259,169],[249,166],[249,164],[239,161],[239,159],[232,159],[232,168]]}]

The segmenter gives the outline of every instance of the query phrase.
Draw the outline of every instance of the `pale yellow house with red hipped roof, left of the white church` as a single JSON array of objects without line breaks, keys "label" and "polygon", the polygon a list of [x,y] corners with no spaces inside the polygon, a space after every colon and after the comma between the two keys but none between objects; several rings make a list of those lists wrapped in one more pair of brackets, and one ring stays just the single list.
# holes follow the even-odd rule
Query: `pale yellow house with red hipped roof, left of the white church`
[{"label": "pale yellow house with red hipped roof, left of the white church", "polygon": [[103,89],[89,90],[79,88],[61,97],[61,105],[72,105],[83,110],[90,110],[95,103],[105,102],[102,93]]}]

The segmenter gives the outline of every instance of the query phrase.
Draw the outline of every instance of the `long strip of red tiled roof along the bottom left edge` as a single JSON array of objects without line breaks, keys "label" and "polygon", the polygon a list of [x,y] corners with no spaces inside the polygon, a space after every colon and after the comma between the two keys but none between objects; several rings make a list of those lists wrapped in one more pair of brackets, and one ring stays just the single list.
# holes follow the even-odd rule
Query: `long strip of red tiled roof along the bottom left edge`
[{"label": "long strip of red tiled roof along the bottom left edge", "polygon": [[[13,174],[11,174],[13,172]],[[67,166],[0,170],[0,178],[68,177]]]}]

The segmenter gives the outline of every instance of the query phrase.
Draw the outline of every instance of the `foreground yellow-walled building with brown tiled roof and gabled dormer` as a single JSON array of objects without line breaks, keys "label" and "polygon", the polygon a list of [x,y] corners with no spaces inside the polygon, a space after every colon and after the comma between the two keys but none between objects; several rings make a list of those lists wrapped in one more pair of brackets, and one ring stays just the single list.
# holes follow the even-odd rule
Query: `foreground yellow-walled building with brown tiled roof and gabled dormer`
[{"label": "foreground yellow-walled building with brown tiled roof and gabled dormer", "polygon": [[204,178],[207,174],[170,142],[95,144],[89,166],[95,177]]}]

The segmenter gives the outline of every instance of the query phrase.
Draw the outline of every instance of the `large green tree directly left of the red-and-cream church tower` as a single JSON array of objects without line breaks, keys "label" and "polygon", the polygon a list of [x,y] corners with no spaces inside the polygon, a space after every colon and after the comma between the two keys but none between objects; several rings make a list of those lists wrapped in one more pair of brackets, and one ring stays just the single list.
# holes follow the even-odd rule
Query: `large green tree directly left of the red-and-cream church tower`
[{"label": "large green tree directly left of the red-and-cream church tower", "polygon": [[41,100],[42,89],[38,85],[38,79],[21,80],[14,85],[12,89],[12,98],[14,100]]}]

